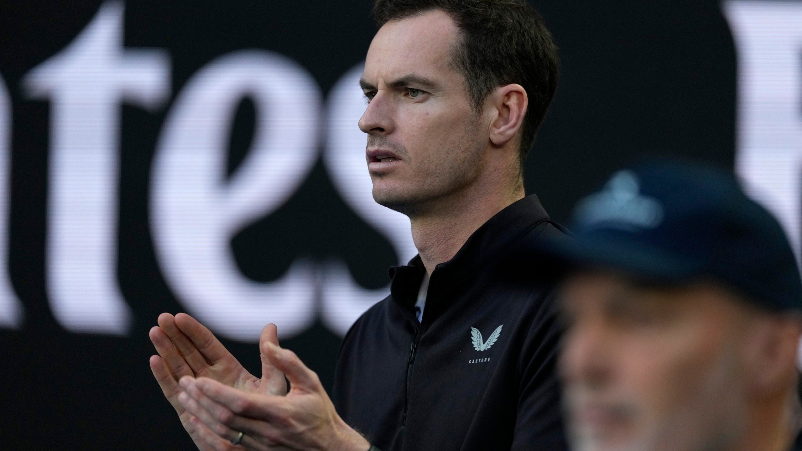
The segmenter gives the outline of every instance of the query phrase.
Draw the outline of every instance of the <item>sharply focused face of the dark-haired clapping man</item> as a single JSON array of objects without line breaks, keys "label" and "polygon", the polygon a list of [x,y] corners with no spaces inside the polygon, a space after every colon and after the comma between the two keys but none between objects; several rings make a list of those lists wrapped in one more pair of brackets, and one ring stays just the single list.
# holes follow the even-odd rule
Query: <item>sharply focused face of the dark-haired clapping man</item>
[{"label": "sharply focused face of the dark-haired clapping man", "polygon": [[361,84],[370,103],[359,128],[373,197],[402,213],[459,193],[482,170],[488,128],[449,64],[458,32],[433,10],[388,22],[367,52]]}]

